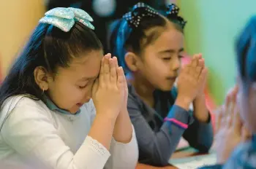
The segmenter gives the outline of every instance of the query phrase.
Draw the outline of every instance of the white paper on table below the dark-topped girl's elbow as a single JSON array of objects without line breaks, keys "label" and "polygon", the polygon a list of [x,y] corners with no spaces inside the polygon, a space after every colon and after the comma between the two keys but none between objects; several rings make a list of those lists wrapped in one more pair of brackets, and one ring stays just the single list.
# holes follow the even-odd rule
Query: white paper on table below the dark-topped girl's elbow
[{"label": "white paper on table below the dark-topped girl's elbow", "polygon": [[170,164],[180,169],[195,169],[195,168],[203,167],[204,165],[214,165],[216,164],[216,154],[211,153],[211,154],[199,155],[195,157],[173,159],[173,160],[170,160]]}]

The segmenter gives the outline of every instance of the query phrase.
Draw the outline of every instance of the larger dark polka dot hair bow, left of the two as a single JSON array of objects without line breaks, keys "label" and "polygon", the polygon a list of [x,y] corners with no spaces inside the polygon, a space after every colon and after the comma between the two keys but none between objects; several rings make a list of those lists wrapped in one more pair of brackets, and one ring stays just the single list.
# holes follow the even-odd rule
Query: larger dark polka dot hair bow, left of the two
[{"label": "larger dark polka dot hair bow, left of the two", "polygon": [[139,2],[135,4],[131,12],[124,14],[123,18],[127,20],[130,27],[138,28],[143,17],[156,17],[157,15],[159,15],[159,13],[155,9]]}]

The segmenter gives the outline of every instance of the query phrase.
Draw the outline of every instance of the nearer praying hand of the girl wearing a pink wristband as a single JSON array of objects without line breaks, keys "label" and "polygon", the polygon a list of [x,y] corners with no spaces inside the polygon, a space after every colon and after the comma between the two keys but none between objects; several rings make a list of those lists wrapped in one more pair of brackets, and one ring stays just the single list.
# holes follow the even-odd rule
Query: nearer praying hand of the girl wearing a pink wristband
[{"label": "nearer praying hand of the girl wearing a pink wristband", "polygon": [[201,92],[206,75],[207,69],[204,67],[202,55],[194,55],[192,62],[184,66],[178,76],[176,105],[189,109],[189,104]]}]

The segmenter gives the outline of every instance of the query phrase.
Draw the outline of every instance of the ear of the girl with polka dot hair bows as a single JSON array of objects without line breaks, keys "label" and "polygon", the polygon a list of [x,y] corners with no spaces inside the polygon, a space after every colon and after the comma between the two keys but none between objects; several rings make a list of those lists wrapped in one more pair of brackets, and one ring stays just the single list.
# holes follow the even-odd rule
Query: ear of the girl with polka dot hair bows
[{"label": "ear of the girl with polka dot hair bows", "polygon": [[130,71],[138,71],[139,58],[137,55],[135,55],[134,52],[127,52],[124,55],[124,60],[125,60],[125,63],[127,64],[127,67],[129,68]]}]

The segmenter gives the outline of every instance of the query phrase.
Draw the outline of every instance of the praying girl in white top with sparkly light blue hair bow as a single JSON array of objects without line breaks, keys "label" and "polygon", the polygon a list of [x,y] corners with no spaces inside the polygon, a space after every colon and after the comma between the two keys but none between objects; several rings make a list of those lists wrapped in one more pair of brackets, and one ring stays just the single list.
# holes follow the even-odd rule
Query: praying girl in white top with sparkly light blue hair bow
[{"label": "praying girl in white top with sparkly light blue hair bow", "polygon": [[124,71],[91,21],[75,8],[39,20],[1,84],[0,168],[135,168]]}]

